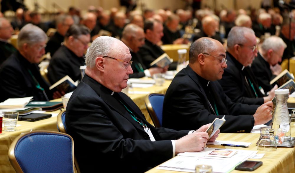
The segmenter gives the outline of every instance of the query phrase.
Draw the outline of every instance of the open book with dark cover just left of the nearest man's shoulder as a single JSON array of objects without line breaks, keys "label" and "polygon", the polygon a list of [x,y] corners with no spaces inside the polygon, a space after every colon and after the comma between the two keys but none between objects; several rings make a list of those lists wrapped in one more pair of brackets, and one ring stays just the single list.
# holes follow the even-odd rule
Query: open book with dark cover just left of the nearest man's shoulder
[{"label": "open book with dark cover just left of the nearest man's shoulder", "polygon": [[60,92],[72,92],[77,88],[78,81],[74,82],[68,75],[61,78],[59,81],[55,82],[55,84],[49,87],[50,90],[56,89]]}]

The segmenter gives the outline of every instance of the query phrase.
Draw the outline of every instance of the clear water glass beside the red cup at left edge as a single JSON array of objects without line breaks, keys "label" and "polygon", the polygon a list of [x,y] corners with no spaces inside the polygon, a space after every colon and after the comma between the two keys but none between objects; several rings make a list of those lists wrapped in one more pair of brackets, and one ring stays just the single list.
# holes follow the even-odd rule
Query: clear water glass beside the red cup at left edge
[{"label": "clear water glass beside the red cup at left edge", "polygon": [[19,112],[16,111],[7,111],[3,113],[3,125],[4,131],[12,132],[15,131],[15,127],[17,126],[17,118]]}]

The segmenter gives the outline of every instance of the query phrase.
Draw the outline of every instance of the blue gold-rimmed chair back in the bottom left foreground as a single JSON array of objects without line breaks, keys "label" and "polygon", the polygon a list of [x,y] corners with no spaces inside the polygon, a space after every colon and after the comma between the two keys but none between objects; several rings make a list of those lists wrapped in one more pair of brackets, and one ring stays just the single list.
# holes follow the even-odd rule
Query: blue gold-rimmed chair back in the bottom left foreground
[{"label": "blue gold-rimmed chair back in the bottom left foreground", "polygon": [[74,141],[64,133],[32,131],[18,136],[8,157],[16,172],[74,172]]}]

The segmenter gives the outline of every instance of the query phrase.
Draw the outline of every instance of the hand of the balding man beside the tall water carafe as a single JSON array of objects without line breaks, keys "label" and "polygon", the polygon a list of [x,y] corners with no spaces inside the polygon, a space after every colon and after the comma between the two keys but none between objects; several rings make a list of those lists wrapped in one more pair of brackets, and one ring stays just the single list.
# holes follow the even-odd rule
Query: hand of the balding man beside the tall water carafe
[{"label": "hand of the balding man beside the tall water carafe", "polygon": [[273,102],[269,101],[257,108],[254,116],[254,125],[265,124],[273,117],[271,111],[273,110]]}]

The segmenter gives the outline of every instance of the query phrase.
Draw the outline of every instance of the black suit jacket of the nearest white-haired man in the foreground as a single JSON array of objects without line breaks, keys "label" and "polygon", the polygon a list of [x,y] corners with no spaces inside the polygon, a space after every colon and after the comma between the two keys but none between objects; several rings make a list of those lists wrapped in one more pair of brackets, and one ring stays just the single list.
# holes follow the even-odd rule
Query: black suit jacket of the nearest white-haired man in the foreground
[{"label": "black suit jacket of the nearest white-haired man in the foreground", "polygon": [[[155,128],[126,94],[111,93],[85,75],[68,102],[65,124],[81,172],[145,172],[172,158],[171,140],[189,131]],[[156,141],[150,141],[118,100],[150,128]]]}]

